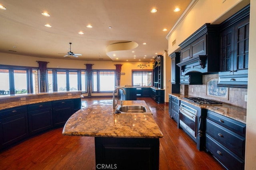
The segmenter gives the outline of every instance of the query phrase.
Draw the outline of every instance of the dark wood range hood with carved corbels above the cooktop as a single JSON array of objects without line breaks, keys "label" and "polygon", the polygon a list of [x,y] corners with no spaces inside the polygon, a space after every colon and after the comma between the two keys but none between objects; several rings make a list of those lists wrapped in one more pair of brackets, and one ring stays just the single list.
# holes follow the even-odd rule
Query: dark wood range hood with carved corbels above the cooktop
[{"label": "dark wood range hood with carved corbels above the cooktop", "polygon": [[219,71],[218,37],[219,25],[206,23],[179,45],[181,76]]}]

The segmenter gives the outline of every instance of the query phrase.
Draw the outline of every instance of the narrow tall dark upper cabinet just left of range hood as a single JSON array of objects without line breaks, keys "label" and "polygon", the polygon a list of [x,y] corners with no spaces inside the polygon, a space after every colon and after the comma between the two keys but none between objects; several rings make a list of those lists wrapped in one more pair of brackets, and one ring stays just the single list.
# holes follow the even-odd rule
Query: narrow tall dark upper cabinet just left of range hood
[{"label": "narrow tall dark upper cabinet just left of range hood", "polygon": [[176,65],[180,63],[180,53],[172,53],[169,57],[171,57],[172,93],[180,93],[180,67]]}]

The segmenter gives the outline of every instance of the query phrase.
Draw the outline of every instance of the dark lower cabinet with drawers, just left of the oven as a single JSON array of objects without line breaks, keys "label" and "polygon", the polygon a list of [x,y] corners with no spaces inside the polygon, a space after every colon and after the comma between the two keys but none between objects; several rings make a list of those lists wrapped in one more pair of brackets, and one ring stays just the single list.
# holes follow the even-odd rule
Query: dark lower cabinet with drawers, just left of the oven
[{"label": "dark lower cabinet with drawers, just left of the oven", "polygon": [[180,100],[178,98],[169,95],[169,114],[172,119],[179,123],[179,108]]}]

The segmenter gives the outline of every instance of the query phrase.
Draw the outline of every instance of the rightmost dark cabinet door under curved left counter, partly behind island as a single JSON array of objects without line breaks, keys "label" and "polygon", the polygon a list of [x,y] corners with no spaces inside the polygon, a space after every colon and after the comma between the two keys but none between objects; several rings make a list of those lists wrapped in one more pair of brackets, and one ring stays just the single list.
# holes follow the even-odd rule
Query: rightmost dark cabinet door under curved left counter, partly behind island
[{"label": "rightmost dark cabinet door under curved left counter, partly behind island", "polygon": [[74,113],[74,105],[56,106],[52,109],[53,126],[62,126]]}]

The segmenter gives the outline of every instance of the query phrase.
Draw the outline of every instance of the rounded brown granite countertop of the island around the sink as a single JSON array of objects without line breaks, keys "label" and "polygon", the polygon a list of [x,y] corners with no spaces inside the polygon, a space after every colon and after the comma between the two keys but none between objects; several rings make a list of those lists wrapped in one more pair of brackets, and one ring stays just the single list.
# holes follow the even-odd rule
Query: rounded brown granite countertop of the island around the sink
[{"label": "rounded brown granite countertop of the island around the sink", "polygon": [[[146,103],[141,100],[123,101],[123,106],[130,105],[146,106]],[[163,137],[151,113],[116,114],[112,107],[112,101],[83,107],[68,119],[62,134],[90,137]]]}]

